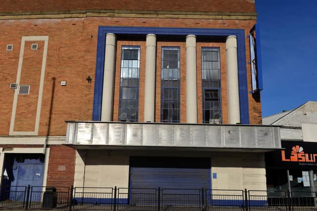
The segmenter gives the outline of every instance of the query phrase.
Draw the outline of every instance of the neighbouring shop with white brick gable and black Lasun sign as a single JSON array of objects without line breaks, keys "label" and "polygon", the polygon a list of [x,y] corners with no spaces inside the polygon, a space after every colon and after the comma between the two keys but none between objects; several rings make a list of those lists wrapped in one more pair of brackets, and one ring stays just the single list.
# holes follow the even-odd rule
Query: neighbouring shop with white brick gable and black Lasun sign
[{"label": "neighbouring shop with white brick gable and black Lasun sign", "polygon": [[283,148],[265,155],[267,189],[290,190],[293,196],[316,192],[317,102],[265,117],[263,124],[281,126]]}]

